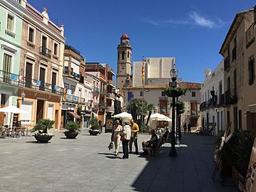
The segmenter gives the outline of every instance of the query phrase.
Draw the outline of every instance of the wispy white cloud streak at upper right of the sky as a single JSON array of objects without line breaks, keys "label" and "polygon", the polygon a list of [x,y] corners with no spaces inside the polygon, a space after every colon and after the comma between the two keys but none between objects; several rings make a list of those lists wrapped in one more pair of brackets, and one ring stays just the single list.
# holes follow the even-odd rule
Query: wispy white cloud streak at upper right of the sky
[{"label": "wispy white cloud streak at upper right of the sky", "polygon": [[204,18],[203,16],[200,16],[196,11],[193,11],[188,14],[188,18],[184,20],[174,20],[174,19],[168,19],[168,20],[152,20],[149,18],[143,18],[142,21],[146,23],[150,23],[154,26],[168,26],[169,24],[176,24],[176,25],[190,25],[190,26],[201,26],[204,28],[220,28],[224,25],[224,22],[217,18],[214,20],[211,20],[209,18]]}]

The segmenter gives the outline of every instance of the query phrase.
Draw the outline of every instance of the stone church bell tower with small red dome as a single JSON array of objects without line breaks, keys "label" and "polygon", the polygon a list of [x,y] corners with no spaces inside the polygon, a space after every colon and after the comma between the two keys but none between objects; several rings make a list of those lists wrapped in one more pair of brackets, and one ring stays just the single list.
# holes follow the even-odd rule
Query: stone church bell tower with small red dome
[{"label": "stone church bell tower with small red dome", "polygon": [[117,46],[117,88],[122,91],[123,87],[132,85],[131,82],[131,57],[132,47],[129,43],[127,34],[120,38],[120,44]]}]

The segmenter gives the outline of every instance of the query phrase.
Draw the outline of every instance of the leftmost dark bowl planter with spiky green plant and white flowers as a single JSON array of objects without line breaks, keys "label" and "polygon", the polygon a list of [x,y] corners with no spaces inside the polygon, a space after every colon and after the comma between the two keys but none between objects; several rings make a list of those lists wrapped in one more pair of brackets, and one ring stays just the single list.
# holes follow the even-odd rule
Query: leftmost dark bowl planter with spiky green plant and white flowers
[{"label": "leftmost dark bowl planter with spiky green plant and white flowers", "polygon": [[54,121],[50,119],[41,119],[38,124],[33,127],[34,137],[37,142],[47,143],[54,136],[53,134],[48,133],[48,130],[53,128]]}]

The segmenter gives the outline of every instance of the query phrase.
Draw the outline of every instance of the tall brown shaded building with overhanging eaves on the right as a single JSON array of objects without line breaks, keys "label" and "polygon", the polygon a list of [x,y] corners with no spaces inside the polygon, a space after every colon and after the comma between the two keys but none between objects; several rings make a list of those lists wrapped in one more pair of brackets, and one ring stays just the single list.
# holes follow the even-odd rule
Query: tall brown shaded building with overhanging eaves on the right
[{"label": "tall brown shaded building with overhanging eaves on the right", "polygon": [[250,84],[255,79],[255,69],[251,64],[254,62],[253,30],[250,28],[254,15],[254,9],[238,12],[220,48],[224,59],[224,127],[231,122],[232,131],[247,129],[247,112],[250,112],[250,105],[255,104],[253,96],[251,99],[247,96],[248,92],[254,90]]}]

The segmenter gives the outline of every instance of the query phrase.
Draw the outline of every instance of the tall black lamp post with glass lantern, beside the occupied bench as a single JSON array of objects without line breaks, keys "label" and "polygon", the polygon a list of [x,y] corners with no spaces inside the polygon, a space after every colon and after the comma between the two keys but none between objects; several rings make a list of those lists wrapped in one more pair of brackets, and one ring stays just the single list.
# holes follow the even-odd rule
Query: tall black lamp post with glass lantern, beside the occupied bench
[{"label": "tall black lamp post with glass lantern, beside the occupied bench", "polygon": [[[170,71],[171,80],[169,86],[175,88],[177,86],[177,76],[178,76],[178,70],[176,70],[175,65],[174,68]],[[171,151],[169,153],[169,156],[175,157],[177,156],[176,149],[175,149],[175,96],[172,97],[172,106],[171,106]]]}]

